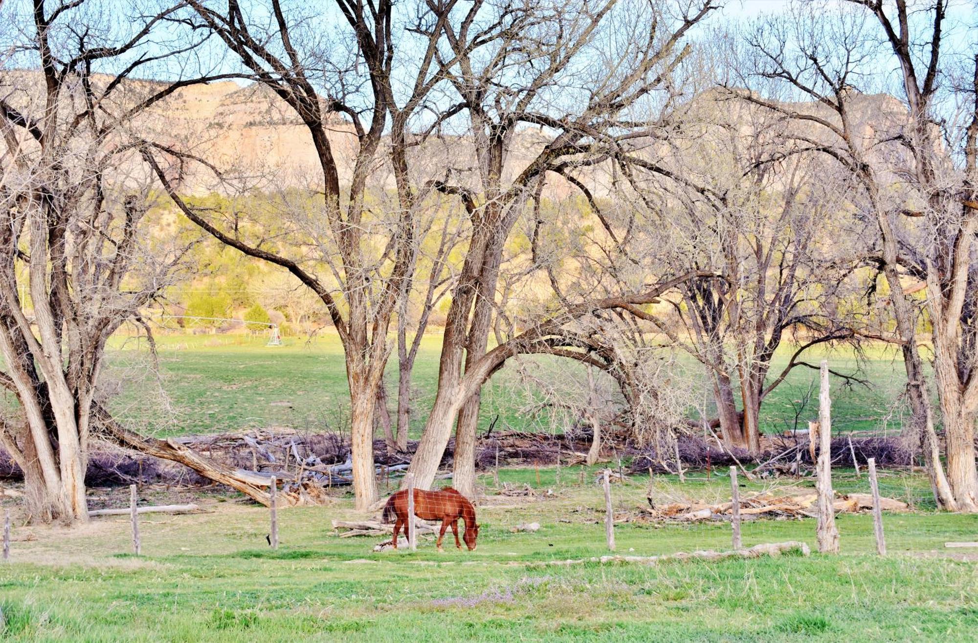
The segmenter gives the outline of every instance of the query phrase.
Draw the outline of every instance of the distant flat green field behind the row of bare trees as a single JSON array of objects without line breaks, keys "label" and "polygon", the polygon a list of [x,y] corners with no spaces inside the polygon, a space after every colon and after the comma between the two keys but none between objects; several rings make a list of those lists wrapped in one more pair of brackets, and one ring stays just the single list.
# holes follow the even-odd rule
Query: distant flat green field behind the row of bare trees
[{"label": "distant flat green field behind the row of bare trees", "polygon": [[[425,337],[415,368],[412,435],[422,429],[434,400],[440,336]],[[120,382],[113,410],[144,430],[163,435],[211,433],[248,427],[290,426],[312,431],[341,430],[347,425],[348,391],[342,348],[334,335],[306,342],[289,339],[271,348],[264,339],[243,335],[171,335],[158,339],[159,376],[149,367],[145,351],[134,341],[113,342],[111,377]],[[145,347],[145,345],[144,345]],[[893,356],[872,353],[858,363],[850,354],[828,356],[833,368],[859,370],[870,386],[846,388],[833,381],[833,428],[899,430],[900,405],[906,376]],[[778,358],[775,368],[786,358]],[[820,359],[816,354],[812,361]],[[579,367],[567,361],[536,358],[537,374]],[[688,364],[689,377],[699,382],[698,364]],[[549,370],[550,369],[550,370]],[[762,428],[780,431],[793,426],[796,407],[804,399],[817,371],[795,368],[765,402]],[[833,378],[834,380],[835,378]],[[390,404],[396,404],[396,364],[389,364]],[[507,366],[484,389],[481,426],[499,415],[499,428],[553,430],[525,416],[521,409],[531,393]],[[801,413],[801,426],[815,414],[816,400]]]}]

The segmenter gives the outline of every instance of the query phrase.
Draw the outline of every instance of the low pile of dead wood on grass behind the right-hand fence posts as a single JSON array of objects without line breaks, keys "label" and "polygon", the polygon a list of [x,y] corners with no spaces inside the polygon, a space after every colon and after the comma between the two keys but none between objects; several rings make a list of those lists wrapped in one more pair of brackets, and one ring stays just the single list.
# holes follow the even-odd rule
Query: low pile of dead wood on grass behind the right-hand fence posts
[{"label": "low pile of dead wood on grass behind the right-hand fence posts", "polygon": [[[756,518],[788,519],[803,516],[815,517],[815,503],[818,494],[811,490],[784,489],[749,495],[740,500],[740,519],[753,520]],[[886,511],[907,511],[910,507],[906,502],[893,498],[880,498],[882,508]],[[629,513],[616,518],[618,522],[678,522],[689,523],[703,520],[729,521],[733,513],[732,502],[705,504],[696,502],[665,502],[657,503],[648,497],[648,509]],[[833,501],[836,512],[859,513],[872,509],[872,496],[868,493],[836,493]]]}]

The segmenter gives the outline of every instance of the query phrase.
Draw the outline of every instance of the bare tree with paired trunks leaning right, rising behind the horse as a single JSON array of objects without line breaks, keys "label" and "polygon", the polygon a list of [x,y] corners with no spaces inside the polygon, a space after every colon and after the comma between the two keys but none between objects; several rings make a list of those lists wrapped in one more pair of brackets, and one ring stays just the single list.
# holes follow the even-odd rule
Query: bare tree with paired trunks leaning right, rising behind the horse
[{"label": "bare tree with paired trunks leaning right, rising behind the horse", "polygon": [[[460,97],[449,115],[465,112],[477,167],[475,180],[456,171],[438,186],[459,196],[472,234],[452,293],[438,392],[411,464],[419,486],[433,481],[459,412],[453,484],[474,494],[478,387],[470,397],[462,382],[492,354],[486,346],[506,240],[526,204],[539,201],[548,173],[566,177],[575,167],[599,164],[609,158],[619,128],[648,126],[632,122],[629,108],[664,87],[688,54],[679,43],[714,7],[710,0],[678,4],[671,15],[669,3],[581,0],[551,8],[476,1],[446,25],[442,60]],[[611,37],[616,29],[629,35]],[[526,125],[549,136],[508,179],[507,159]]]}]

